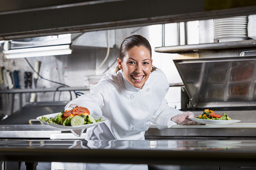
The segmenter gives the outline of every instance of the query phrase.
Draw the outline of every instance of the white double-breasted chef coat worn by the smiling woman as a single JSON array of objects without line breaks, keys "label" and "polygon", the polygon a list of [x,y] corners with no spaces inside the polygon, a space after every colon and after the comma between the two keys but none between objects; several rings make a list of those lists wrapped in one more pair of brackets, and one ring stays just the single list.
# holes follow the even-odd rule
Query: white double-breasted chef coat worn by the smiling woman
[{"label": "white double-breasted chef coat worn by the smiling woman", "polygon": [[107,74],[89,94],[70,101],[87,107],[92,115],[104,116],[107,122],[90,127],[86,139],[144,140],[150,122],[158,129],[177,124],[170,120],[182,111],[168,106],[164,98],[169,89],[166,76],[160,69],[150,73],[142,89],[133,87],[123,70]]}]

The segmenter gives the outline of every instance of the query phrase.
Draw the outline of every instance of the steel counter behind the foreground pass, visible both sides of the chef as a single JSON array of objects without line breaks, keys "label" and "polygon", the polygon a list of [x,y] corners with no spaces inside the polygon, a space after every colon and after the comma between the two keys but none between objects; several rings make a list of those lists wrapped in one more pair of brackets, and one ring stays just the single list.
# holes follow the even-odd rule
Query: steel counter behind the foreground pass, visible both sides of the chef
[{"label": "steel counter behind the foreground pass, visible both sides of the chef", "polygon": [[[76,137],[67,129],[54,128],[46,124],[0,125],[0,138],[20,139],[84,139]],[[174,125],[157,129],[155,124],[145,132],[146,139],[256,139],[256,123],[235,123],[231,125]]]}]

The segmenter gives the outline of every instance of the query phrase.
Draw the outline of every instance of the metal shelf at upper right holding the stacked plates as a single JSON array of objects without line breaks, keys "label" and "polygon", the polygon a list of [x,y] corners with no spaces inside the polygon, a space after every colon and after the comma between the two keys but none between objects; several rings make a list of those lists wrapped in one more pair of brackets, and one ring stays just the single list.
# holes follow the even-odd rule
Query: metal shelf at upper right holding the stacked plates
[{"label": "metal shelf at upper right holding the stacked plates", "polygon": [[232,50],[232,49],[245,49],[245,48],[256,48],[256,40],[192,44],[192,45],[181,45],[181,46],[165,46],[165,47],[156,47],[154,50],[155,52],[158,52],[158,53],[193,53],[193,52]]}]

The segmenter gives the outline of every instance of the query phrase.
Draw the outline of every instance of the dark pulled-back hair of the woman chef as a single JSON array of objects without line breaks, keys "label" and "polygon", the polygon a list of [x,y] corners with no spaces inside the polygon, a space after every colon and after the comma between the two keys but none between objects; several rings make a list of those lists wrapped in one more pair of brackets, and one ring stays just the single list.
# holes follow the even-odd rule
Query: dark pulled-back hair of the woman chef
[{"label": "dark pulled-back hair of the woman chef", "polygon": [[[152,50],[148,40],[140,35],[132,35],[130,37],[125,38],[120,46],[119,58],[121,59],[122,62],[124,60],[124,57],[127,55],[127,52],[135,46],[145,47],[150,52],[150,58],[152,57]],[[152,66],[151,72],[154,71],[155,69],[156,67]],[[120,68],[117,66],[115,73],[117,73],[119,70]]]}]

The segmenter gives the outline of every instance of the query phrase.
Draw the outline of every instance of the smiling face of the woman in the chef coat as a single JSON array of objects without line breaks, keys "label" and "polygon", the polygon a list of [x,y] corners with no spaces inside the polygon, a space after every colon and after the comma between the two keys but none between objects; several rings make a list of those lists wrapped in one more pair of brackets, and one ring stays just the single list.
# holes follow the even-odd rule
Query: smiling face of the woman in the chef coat
[{"label": "smiling face of the woman in the chef coat", "polygon": [[118,66],[123,69],[126,80],[139,89],[143,87],[150,75],[152,61],[150,51],[143,46],[131,48],[123,61],[120,58],[117,59]]}]

